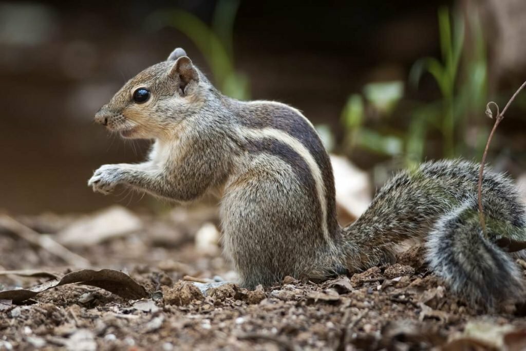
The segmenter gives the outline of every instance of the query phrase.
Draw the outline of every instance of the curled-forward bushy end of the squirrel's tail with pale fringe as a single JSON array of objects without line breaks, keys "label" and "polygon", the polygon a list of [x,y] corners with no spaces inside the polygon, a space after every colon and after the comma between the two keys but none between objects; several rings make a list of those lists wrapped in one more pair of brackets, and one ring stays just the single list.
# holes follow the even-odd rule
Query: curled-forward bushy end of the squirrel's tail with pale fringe
[{"label": "curled-forward bushy end of the squirrel's tail with pale fringe", "polygon": [[505,300],[523,298],[520,270],[495,242],[524,232],[525,228],[494,219],[487,220],[483,232],[477,202],[468,200],[438,220],[430,232],[426,243],[430,268],[472,304],[485,303],[491,309]]}]

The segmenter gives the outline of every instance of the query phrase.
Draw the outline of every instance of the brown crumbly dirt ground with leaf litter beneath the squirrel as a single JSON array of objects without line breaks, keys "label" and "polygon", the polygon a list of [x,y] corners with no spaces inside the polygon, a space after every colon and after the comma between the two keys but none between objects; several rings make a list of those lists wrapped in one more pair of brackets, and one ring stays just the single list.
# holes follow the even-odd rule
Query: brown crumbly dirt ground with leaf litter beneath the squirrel
[{"label": "brown crumbly dirt ground with leaf litter beneath the squirrel", "polygon": [[[66,246],[87,259],[89,268],[129,274],[148,296],[130,300],[68,284],[25,302],[0,299],[0,350],[526,349],[525,308],[509,305],[487,314],[483,306],[466,306],[428,272],[422,248],[403,254],[395,265],[351,277],[317,283],[286,277],[254,291],[226,284],[205,296],[188,280],[235,279],[217,246],[214,210],[131,215],[140,229],[106,233],[88,244],[83,240],[108,227],[104,220],[93,222],[100,214],[15,217],[63,243],[66,228],[83,220],[82,236]],[[0,290],[35,286],[51,279],[44,273],[60,277],[76,269],[60,253],[29,243],[1,223]],[[9,272],[20,269],[33,272]]]}]

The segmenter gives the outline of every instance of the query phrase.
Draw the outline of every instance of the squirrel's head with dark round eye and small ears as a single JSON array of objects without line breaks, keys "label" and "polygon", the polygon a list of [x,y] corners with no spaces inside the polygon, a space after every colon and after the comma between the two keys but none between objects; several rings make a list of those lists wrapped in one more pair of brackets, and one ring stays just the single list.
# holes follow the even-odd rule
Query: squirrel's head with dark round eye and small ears
[{"label": "squirrel's head with dark round eye and small ears", "polygon": [[210,83],[182,48],[131,78],[95,121],[126,138],[162,138],[207,101]]}]

